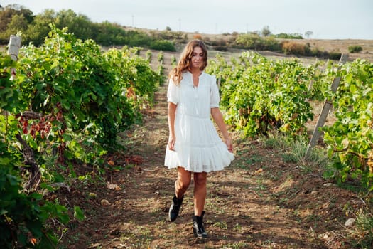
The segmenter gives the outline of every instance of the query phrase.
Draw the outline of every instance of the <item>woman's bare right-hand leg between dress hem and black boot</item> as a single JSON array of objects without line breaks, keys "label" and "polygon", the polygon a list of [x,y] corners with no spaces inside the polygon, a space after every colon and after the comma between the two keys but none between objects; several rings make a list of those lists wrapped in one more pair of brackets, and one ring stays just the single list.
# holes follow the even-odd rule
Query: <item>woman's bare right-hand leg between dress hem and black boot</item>
[{"label": "woman's bare right-hand leg between dress hem and black boot", "polygon": [[207,173],[194,173],[194,215],[201,216],[207,194]]}]

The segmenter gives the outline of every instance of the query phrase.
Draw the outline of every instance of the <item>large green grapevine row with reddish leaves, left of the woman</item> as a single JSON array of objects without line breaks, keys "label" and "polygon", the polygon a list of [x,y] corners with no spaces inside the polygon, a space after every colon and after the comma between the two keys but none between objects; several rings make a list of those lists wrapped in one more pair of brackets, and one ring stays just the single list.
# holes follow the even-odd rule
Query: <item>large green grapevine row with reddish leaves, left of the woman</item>
[{"label": "large green grapevine row with reddish leaves, left of the woman", "polygon": [[0,115],[0,230],[6,231],[0,245],[6,248],[55,248],[47,218],[66,224],[69,216],[64,206],[45,201],[40,187],[59,177],[58,165],[101,166],[117,134],[152,105],[161,79],[136,51],[104,53],[92,40],[51,28],[42,46],[21,48],[18,63],[0,58],[0,108],[6,113]]}]

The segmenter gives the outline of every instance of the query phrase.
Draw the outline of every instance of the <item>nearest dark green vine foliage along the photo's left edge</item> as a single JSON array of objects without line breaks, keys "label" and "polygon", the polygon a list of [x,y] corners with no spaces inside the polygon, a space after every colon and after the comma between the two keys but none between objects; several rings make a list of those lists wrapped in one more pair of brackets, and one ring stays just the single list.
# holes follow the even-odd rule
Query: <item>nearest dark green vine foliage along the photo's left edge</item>
[{"label": "nearest dark green vine foliage along the photo's left edge", "polygon": [[67,208],[22,187],[21,166],[26,165],[13,137],[24,127],[12,112],[22,112],[27,105],[15,80],[10,79],[10,67],[18,69],[9,56],[0,53],[0,107],[9,112],[0,115],[0,248],[56,248],[57,238],[45,223],[53,218],[67,223]]}]

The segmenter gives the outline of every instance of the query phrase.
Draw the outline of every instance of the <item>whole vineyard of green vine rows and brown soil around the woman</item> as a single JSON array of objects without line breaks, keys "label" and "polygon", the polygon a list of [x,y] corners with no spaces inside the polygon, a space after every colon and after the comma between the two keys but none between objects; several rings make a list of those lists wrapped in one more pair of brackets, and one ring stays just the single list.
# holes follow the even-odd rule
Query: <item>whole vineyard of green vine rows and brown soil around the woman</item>
[{"label": "whole vineyard of green vine rows and brown soil around the woman", "polygon": [[[51,28],[43,46],[21,48],[17,63],[0,58],[0,247],[373,245],[369,41],[347,41],[364,50],[344,65],[209,51],[206,71],[218,79],[235,159],[209,174],[210,236],[196,240],[193,184],[178,221],[167,221],[176,177],[163,166],[167,74],[180,51],[102,48]],[[343,41],[305,42],[346,49]],[[333,108],[306,159],[325,100]]]}]

